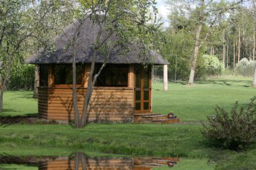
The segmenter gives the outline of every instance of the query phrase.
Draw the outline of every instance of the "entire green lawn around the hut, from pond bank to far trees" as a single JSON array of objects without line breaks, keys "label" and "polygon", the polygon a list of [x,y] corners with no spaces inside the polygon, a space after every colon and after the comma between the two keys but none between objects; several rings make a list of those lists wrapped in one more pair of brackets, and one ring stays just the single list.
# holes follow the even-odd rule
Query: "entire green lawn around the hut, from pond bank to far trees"
[{"label": "entire green lawn around the hut, from pond bank to far trees", "polygon": [[[197,123],[213,115],[216,105],[227,110],[236,100],[240,105],[247,105],[256,94],[256,89],[250,87],[251,78],[220,77],[196,81],[193,87],[183,83],[170,83],[167,92],[162,91],[162,83],[155,83],[153,110],[162,114],[172,111],[182,121],[191,121],[189,124],[89,124],[83,129],[69,125],[3,124],[0,126],[0,154],[45,155],[47,149],[44,148],[49,148],[53,155],[96,151],[182,157],[173,169],[256,169],[255,144],[241,153],[213,148],[201,136],[201,125]],[[36,111],[37,102],[32,99],[32,92],[5,93],[3,116]],[[30,147],[38,149],[36,152],[26,149]]]}]

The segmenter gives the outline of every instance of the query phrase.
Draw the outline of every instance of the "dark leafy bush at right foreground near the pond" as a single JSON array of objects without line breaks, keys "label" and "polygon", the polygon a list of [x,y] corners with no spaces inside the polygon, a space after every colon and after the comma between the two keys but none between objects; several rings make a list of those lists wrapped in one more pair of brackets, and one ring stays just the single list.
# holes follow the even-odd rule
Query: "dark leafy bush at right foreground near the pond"
[{"label": "dark leafy bush at right foreground near the pond", "polygon": [[209,125],[203,124],[203,136],[215,145],[221,145],[234,151],[246,150],[251,142],[256,141],[256,108],[251,98],[247,108],[238,112],[238,101],[230,114],[223,108],[216,107],[216,116],[208,116]]}]

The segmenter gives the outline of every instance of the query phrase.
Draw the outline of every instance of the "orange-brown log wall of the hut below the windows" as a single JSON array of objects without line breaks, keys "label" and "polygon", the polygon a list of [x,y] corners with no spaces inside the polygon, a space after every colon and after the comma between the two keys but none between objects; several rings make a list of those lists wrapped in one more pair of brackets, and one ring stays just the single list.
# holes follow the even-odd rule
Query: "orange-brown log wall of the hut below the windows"
[{"label": "orange-brown log wall of the hut below the windows", "polygon": [[[85,94],[86,88],[77,88],[79,114]],[[73,120],[71,87],[38,87],[38,114],[48,120]],[[87,122],[132,122],[133,88],[94,87],[86,118]]]}]

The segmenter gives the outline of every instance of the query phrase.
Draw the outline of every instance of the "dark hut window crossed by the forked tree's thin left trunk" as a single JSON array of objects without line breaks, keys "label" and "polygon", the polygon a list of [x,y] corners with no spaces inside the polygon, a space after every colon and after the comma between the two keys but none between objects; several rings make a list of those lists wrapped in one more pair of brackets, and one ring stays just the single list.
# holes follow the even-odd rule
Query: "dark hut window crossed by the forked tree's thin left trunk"
[{"label": "dark hut window crossed by the forked tree's thin left trunk", "polygon": [[[73,84],[72,65],[54,65],[54,84],[71,85]],[[76,65],[76,84],[82,85],[82,65]]]}]

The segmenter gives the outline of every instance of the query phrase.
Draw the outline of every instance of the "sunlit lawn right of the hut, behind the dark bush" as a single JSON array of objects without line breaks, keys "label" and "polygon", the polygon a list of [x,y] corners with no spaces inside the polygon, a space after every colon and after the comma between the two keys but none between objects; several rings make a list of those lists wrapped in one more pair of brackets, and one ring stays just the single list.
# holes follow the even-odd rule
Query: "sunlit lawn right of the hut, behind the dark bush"
[{"label": "sunlit lawn right of the hut, behind the dark bush", "polygon": [[161,114],[172,111],[181,121],[206,120],[206,116],[215,114],[216,105],[231,110],[239,101],[246,106],[256,95],[251,82],[251,77],[219,77],[195,81],[193,87],[184,85],[187,82],[169,83],[167,92],[162,91],[162,83],[154,83],[153,110]]}]

